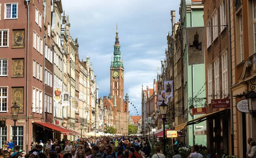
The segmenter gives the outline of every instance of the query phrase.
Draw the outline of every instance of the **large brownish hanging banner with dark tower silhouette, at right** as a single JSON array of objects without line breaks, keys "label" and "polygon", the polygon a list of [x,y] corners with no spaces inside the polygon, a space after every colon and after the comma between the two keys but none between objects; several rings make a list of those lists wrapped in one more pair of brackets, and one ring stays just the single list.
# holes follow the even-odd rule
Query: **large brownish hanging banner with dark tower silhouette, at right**
[{"label": "large brownish hanging banner with dark tower silhouette, at right", "polygon": [[204,64],[204,27],[186,28],[189,65]]}]

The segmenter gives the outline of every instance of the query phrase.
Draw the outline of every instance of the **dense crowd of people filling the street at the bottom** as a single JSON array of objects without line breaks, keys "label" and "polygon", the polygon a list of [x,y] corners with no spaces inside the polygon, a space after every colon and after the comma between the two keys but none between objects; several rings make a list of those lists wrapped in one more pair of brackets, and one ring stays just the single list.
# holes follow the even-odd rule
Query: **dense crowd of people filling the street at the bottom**
[{"label": "dense crowd of people filling the street at the bottom", "polygon": [[[32,142],[29,152],[20,150],[13,142],[5,142],[0,158],[150,158],[151,147],[145,138],[137,137],[89,137],[77,141],[51,139],[39,144]],[[155,147],[153,158],[165,158],[160,147]]]}]

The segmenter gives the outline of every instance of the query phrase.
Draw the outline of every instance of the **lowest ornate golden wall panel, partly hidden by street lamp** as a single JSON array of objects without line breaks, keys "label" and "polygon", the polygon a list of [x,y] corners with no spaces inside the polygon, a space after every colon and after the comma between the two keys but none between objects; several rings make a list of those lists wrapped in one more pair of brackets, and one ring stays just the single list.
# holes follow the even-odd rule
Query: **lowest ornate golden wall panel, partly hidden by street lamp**
[{"label": "lowest ornate golden wall panel, partly hidden by street lamp", "polygon": [[24,87],[12,87],[12,105],[15,102],[20,107],[19,113],[24,113]]}]

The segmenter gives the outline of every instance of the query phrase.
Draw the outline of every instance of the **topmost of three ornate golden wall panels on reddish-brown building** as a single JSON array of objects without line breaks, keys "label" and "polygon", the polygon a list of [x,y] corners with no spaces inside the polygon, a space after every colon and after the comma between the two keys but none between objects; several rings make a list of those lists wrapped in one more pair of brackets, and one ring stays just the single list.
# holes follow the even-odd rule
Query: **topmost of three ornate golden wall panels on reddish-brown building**
[{"label": "topmost of three ornate golden wall panels on reddish-brown building", "polygon": [[12,48],[25,48],[25,30],[13,30],[12,32]]}]

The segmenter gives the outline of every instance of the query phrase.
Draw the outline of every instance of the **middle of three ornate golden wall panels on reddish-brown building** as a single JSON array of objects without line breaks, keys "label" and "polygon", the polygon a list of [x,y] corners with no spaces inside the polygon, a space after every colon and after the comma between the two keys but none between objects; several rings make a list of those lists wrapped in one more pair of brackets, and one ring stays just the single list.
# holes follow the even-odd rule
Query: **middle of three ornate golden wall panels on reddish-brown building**
[{"label": "middle of three ornate golden wall panels on reddish-brown building", "polygon": [[24,77],[24,59],[12,59],[12,77]]}]

